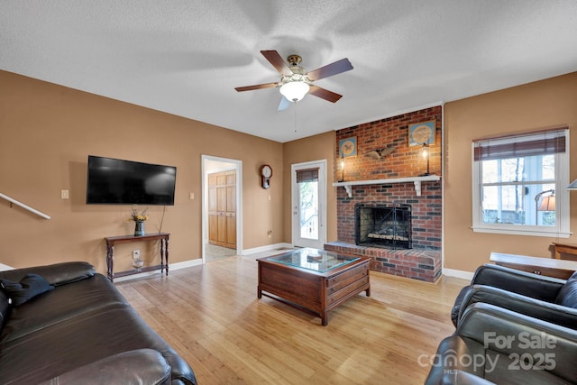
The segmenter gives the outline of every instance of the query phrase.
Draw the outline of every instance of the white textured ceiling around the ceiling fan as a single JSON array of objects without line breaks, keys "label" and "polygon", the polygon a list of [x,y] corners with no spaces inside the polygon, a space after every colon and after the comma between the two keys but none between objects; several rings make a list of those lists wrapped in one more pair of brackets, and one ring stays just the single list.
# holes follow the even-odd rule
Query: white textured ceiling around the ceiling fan
[{"label": "white textured ceiling around the ceiling fan", "polygon": [[[260,50],[343,98],[277,111]],[[575,0],[3,0],[0,69],[278,142],[577,70]],[[0,85],[2,92],[2,85]]]}]

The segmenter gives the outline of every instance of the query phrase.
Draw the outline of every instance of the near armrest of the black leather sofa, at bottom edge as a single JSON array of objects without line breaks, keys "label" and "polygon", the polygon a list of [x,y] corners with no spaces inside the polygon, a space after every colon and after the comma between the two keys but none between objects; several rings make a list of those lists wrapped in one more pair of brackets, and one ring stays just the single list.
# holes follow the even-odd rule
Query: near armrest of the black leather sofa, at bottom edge
[{"label": "near armrest of the black leather sofa, at bottom edge", "polygon": [[138,349],[105,357],[41,385],[80,383],[167,385],[170,384],[170,366],[159,352]]}]

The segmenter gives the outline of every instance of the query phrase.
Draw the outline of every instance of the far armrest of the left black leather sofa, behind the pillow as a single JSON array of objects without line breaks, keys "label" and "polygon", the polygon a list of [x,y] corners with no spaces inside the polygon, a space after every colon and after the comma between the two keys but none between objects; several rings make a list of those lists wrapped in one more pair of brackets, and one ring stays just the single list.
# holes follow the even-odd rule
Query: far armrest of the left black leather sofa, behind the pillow
[{"label": "far armrest of the left black leather sofa, behind the pillow", "polygon": [[60,286],[93,277],[96,271],[94,266],[88,262],[61,262],[46,266],[0,271],[0,280],[19,282],[28,273],[38,274],[50,285]]}]

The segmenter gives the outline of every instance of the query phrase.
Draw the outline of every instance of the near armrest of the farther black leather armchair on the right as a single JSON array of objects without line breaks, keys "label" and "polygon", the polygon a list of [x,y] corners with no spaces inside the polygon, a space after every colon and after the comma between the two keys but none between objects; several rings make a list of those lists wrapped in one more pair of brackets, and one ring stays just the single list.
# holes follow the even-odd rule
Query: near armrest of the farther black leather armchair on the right
[{"label": "near armrest of the farther black leather armchair on the right", "polygon": [[554,303],[530,298],[508,290],[484,285],[473,285],[466,292],[461,303],[457,324],[467,307],[477,302],[504,307],[508,310],[532,316],[555,325],[575,328],[577,308],[563,307]]}]

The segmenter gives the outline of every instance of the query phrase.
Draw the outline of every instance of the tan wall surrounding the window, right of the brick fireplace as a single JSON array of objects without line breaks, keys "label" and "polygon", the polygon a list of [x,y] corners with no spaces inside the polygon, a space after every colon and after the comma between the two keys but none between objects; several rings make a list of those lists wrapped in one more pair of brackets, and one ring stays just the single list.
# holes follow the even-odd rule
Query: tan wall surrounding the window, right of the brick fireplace
[{"label": "tan wall surrounding the window, right of the brick fireplace", "polygon": [[[569,239],[473,233],[471,142],[568,124],[571,128],[571,180],[577,178],[577,73],[447,103],[444,106],[444,266],[473,271],[490,252],[551,257],[552,242]],[[577,193],[570,193],[571,230],[577,226]],[[562,210],[568,210],[563,207]]]}]

